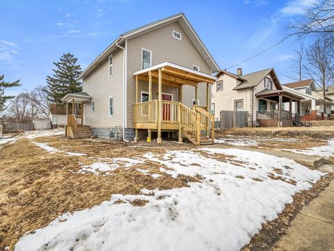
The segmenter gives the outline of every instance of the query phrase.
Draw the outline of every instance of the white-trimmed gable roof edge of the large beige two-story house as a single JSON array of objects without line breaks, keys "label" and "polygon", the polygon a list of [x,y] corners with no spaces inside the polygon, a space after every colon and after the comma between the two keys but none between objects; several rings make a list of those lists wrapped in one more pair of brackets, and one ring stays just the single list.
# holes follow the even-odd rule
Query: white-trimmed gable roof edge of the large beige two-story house
[{"label": "white-trimmed gable roof edge of the large beige two-story house", "polygon": [[109,45],[109,47],[106,48],[106,50],[104,50],[99,56],[97,56],[97,58],[92,63],[90,63],[90,65],[81,73],[81,75],[79,76],[79,79],[83,79],[84,77],[86,77],[86,75],[88,75],[97,65],[99,65],[114,50],[116,50],[118,45],[125,42],[125,40],[129,38],[134,38],[143,33],[152,31],[154,29],[157,29],[161,26],[164,26],[166,24],[170,24],[173,22],[179,22],[180,26],[182,27],[182,29],[184,29],[184,32],[186,33],[186,35],[189,36],[189,39],[191,40],[193,45],[195,45],[198,52],[200,52],[203,59],[205,59],[207,64],[210,66],[210,68],[212,68],[214,71],[217,71],[219,69],[218,64],[216,63],[216,61],[214,61],[214,58],[209,53],[209,50],[207,50],[207,47],[205,47],[202,40],[200,40],[200,37],[198,36],[196,31],[193,29],[193,26],[191,26],[189,20],[186,18],[184,13],[178,13],[176,15],[166,17],[162,20],[158,20],[156,22],[146,24],[137,29],[133,29],[131,31],[122,33],[118,38],[116,38],[116,40],[113,41],[113,43],[111,43],[111,45]]}]

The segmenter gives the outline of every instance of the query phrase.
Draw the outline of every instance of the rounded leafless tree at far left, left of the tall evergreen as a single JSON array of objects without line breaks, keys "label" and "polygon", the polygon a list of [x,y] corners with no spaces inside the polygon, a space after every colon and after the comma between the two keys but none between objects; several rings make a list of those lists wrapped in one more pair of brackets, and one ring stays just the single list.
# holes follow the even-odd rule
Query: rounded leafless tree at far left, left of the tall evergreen
[{"label": "rounded leafless tree at far left, left of the tall evergreen", "polygon": [[32,93],[19,93],[8,105],[8,115],[13,121],[27,123],[38,116],[37,98]]}]

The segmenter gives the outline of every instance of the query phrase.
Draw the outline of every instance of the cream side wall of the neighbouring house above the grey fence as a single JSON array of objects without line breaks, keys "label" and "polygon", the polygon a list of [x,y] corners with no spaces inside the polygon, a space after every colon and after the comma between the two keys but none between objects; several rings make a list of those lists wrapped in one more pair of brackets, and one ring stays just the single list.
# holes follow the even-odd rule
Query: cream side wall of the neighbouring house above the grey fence
[{"label": "cream side wall of the neighbouring house above the grey fence", "polygon": [[220,80],[223,80],[223,91],[216,91],[216,82],[212,85],[212,102],[215,106],[214,118],[220,119],[220,112],[222,110],[234,111],[235,100],[243,100],[244,111],[250,111],[250,90],[233,90],[237,86],[237,81],[239,82],[234,77],[221,75],[217,81]]}]

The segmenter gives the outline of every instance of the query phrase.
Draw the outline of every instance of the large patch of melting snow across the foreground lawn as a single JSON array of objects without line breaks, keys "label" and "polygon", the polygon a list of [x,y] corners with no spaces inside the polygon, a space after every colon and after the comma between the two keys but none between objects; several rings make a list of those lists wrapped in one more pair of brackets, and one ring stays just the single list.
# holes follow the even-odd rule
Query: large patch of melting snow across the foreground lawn
[{"label": "large patch of melting snow across the foreground lawn", "polygon": [[[165,167],[160,171],[171,176],[202,176],[202,181],[171,190],[144,188],[142,195],[113,195],[25,234],[15,250],[239,250],[262,223],[292,203],[296,192],[310,189],[324,175],[287,158],[239,149],[146,153],[127,160],[129,165],[142,163],[143,170],[145,161],[159,162]],[[94,170],[115,168],[95,165]],[[138,199],[145,206],[130,204]]]}]

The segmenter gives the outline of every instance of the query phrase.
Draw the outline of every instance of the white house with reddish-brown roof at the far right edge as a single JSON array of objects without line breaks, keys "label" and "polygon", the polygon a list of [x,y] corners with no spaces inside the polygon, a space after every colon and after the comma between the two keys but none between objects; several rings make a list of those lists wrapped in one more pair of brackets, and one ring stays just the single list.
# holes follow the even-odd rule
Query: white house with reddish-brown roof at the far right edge
[{"label": "white house with reddish-brown roof at the far right edge", "polygon": [[[317,90],[313,79],[283,84],[283,89],[304,98],[301,100],[301,115],[310,115],[310,120],[328,119],[331,116],[333,100],[328,97],[324,100],[322,90]],[[292,112],[296,112],[294,107]]]}]

